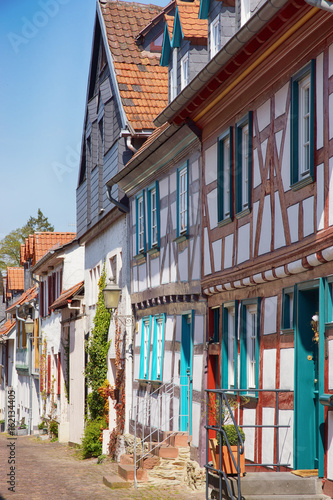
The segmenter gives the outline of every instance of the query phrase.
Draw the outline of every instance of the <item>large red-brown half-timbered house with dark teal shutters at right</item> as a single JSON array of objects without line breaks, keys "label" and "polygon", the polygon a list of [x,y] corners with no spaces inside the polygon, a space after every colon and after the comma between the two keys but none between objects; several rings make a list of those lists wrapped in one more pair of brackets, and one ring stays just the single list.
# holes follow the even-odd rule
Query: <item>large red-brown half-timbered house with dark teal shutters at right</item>
[{"label": "large red-brown half-timbered house with dark teal shutters at right", "polygon": [[303,0],[261,4],[155,121],[202,130],[208,386],[248,395],[237,416],[249,463],[318,469],[326,491],[332,26]]}]

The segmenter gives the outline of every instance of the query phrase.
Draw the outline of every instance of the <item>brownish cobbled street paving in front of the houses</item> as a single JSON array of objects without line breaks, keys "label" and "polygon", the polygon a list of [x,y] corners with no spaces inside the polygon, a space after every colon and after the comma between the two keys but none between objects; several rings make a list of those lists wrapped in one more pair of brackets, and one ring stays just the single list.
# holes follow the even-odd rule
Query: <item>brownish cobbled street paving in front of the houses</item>
[{"label": "brownish cobbled street paving in front of the houses", "polygon": [[113,473],[116,464],[80,460],[73,448],[30,436],[15,440],[15,492],[8,491],[11,442],[10,436],[0,434],[0,500],[205,500],[204,491],[172,485],[172,481],[139,484],[137,490],[111,490],[103,484],[103,476]]}]

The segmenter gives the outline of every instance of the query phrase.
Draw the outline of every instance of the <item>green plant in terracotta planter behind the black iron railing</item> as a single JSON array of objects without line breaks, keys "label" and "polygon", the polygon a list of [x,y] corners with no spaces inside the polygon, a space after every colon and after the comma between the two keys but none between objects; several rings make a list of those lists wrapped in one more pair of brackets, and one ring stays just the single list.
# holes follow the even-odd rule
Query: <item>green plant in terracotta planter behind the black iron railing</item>
[{"label": "green plant in terracotta planter behind the black iron railing", "polygon": [[[222,429],[224,430],[228,443],[231,448],[231,453],[234,457],[235,463],[237,464],[237,448],[238,448],[238,434],[236,427],[233,424],[227,424],[223,425]],[[243,442],[245,441],[245,434],[244,431],[238,427],[239,433],[242,437]],[[209,439],[209,446],[210,450],[212,453],[212,460],[213,460],[213,466],[214,469],[219,470],[220,468],[220,432],[217,432],[217,439],[216,438],[211,438]],[[221,446],[221,451],[222,451],[222,457],[221,457],[221,470],[223,470],[226,475],[232,475],[232,474],[237,474],[237,470],[234,464],[234,461],[232,459],[232,456],[229,452],[229,448],[226,443],[226,439],[224,437],[224,434],[222,433],[222,446]],[[239,455],[239,466],[240,466],[240,475],[243,477],[244,472],[245,472],[245,454],[243,453],[242,455]]]}]

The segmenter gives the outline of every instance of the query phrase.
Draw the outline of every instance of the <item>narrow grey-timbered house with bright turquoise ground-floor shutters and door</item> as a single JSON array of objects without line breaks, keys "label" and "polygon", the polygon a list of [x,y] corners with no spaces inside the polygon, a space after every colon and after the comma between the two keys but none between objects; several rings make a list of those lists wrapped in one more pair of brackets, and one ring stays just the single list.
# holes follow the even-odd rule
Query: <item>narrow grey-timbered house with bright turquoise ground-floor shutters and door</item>
[{"label": "narrow grey-timbered house with bright turquoise ground-floor shutters and door", "polygon": [[[204,440],[206,314],[200,289],[200,172],[197,135],[187,126],[166,124],[111,181],[130,200],[131,302],[137,324],[132,415],[160,388],[160,419],[152,415],[145,422],[142,414],[138,422],[187,432],[196,460]],[[173,398],[166,383],[174,385]]]}]

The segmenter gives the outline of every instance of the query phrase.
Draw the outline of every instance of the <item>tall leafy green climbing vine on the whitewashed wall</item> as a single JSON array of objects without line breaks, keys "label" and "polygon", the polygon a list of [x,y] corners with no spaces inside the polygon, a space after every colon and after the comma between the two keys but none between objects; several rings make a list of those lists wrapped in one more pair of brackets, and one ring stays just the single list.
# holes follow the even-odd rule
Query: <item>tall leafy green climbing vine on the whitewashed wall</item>
[{"label": "tall leafy green climbing vine on the whitewashed wall", "polygon": [[99,388],[103,386],[103,383],[107,375],[107,353],[110,346],[110,341],[108,341],[108,332],[110,325],[110,313],[105,307],[103,288],[105,288],[106,281],[106,271],[105,264],[103,266],[103,271],[98,282],[98,301],[96,314],[94,317],[94,327],[91,332],[91,336],[86,345],[86,351],[88,354],[88,362],[86,365],[86,380],[87,385],[91,389],[88,394],[88,410],[89,417],[95,420],[104,415],[104,399],[99,392]]}]

